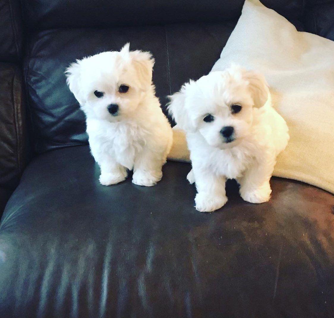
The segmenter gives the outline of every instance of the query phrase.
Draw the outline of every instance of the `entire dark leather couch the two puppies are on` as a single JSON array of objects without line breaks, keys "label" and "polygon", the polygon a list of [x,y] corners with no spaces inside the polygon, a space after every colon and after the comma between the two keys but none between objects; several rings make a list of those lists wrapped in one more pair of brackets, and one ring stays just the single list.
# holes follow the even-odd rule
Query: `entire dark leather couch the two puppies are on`
[{"label": "entire dark leather couch the two puppies are on", "polygon": [[[263,3],[334,40],[334,1]],[[242,4],[0,0],[1,318],[334,317],[332,194],[272,178],[254,205],[229,181],[228,203],[199,213],[176,162],[151,188],[102,186],[66,87],[75,58],[130,41],[153,53],[165,110],[211,69]]]}]

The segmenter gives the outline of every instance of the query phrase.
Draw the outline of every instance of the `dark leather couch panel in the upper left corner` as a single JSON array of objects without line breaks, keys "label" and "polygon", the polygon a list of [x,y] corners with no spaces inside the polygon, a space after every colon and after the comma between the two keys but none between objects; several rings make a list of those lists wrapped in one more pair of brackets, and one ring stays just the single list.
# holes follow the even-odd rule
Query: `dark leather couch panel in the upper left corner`
[{"label": "dark leather couch panel in the upper left corner", "polygon": [[22,54],[22,43],[20,1],[0,0],[0,60],[18,60]]}]

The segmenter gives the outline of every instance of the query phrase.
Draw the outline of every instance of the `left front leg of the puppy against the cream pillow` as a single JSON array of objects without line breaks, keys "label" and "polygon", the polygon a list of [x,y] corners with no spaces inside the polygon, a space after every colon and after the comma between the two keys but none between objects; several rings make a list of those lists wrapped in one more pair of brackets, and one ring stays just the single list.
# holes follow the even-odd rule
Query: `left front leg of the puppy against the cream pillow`
[{"label": "left front leg of the puppy against the cream pillow", "polygon": [[195,197],[196,210],[212,212],[221,208],[226,202],[225,178],[213,173],[196,169],[193,165],[197,194]]}]

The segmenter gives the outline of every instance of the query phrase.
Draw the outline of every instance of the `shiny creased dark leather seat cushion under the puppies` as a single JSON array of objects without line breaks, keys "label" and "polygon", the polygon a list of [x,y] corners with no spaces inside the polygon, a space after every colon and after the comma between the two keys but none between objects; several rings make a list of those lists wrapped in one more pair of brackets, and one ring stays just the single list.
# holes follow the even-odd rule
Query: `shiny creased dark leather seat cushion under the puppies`
[{"label": "shiny creased dark leather seat cushion under the puppies", "polygon": [[87,146],[40,155],[0,224],[0,317],[332,317],[334,196],[193,207],[189,164],[154,187],[99,184]]}]

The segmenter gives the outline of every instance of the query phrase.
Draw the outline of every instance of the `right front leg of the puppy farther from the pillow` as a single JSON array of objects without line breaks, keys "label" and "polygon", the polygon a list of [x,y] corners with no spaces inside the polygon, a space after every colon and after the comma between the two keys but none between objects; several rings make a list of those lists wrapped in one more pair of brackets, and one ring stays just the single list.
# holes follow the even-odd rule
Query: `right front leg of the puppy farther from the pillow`
[{"label": "right front leg of the puppy farther from the pillow", "polygon": [[162,155],[144,149],[135,160],[132,182],[150,187],[162,178]]}]

